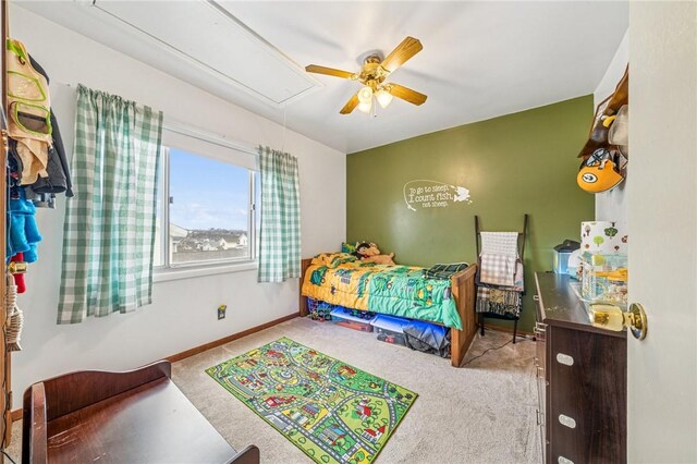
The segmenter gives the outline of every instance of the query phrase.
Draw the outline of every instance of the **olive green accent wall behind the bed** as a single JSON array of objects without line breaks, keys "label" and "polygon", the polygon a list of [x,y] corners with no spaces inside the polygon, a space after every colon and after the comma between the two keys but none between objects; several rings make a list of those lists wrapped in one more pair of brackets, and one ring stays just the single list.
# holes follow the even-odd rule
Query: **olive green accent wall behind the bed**
[{"label": "olive green accent wall behind the bed", "polygon": [[[518,328],[531,331],[534,272],[551,270],[554,245],[578,240],[580,222],[595,217],[594,196],[576,185],[592,114],[589,95],[348,155],[347,241],[375,242],[398,264],[475,262],[475,215],[482,230],[509,231],[527,212]],[[403,187],[417,179],[464,186],[472,203],[409,210]]]}]

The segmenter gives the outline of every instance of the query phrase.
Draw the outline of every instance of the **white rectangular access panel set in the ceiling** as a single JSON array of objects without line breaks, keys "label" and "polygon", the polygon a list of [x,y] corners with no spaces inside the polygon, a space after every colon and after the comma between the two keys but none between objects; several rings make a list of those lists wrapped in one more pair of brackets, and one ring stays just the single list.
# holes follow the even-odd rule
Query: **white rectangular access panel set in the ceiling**
[{"label": "white rectangular access panel set in the ceiling", "polygon": [[319,85],[213,1],[95,0],[94,7],[135,35],[267,103],[281,106]]}]

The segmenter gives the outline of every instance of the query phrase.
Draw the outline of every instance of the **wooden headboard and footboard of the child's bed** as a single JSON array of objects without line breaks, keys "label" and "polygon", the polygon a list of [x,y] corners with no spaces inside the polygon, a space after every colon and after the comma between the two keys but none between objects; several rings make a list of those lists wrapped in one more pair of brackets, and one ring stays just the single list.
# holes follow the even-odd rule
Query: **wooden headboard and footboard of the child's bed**
[{"label": "wooden headboard and footboard of the child's bed", "polygon": [[[307,296],[303,296],[303,282],[305,281],[305,272],[309,267],[311,258],[303,259],[301,268],[301,292],[299,292],[299,313],[301,317],[307,316]],[[475,318],[475,273],[477,265],[470,265],[467,269],[460,271],[450,278],[452,284],[453,297],[457,305],[457,313],[462,319],[463,330],[452,329],[451,338],[451,361],[454,367],[460,367],[477,333],[477,322]],[[438,323],[429,320],[428,322]]]}]

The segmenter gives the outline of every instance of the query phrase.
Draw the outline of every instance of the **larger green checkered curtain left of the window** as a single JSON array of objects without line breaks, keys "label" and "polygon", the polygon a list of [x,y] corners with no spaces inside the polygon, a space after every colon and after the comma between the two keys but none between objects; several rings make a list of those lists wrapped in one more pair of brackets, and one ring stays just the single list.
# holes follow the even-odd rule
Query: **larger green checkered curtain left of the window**
[{"label": "larger green checkered curtain left of the window", "polygon": [[58,323],[151,302],[162,113],[77,87]]}]

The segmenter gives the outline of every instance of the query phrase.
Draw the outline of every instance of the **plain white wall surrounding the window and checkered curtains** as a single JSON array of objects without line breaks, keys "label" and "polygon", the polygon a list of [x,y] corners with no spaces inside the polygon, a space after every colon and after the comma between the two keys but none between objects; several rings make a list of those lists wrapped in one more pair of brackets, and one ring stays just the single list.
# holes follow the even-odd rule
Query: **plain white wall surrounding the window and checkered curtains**
[{"label": "plain white wall surrounding the window and checkered curtains", "polygon": [[[11,5],[12,36],[51,78],[53,109],[72,147],[77,83],[149,105],[175,121],[252,146],[280,149],[283,127],[110,48]],[[71,89],[65,84],[73,85]],[[284,150],[298,157],[303,256],[338,249],[345,236],[345,154],[286,131]],[[126,369],[223,338],[297,310],[297,279],[258,284],[256,270],[157,282],[154,303],[136,313],[56,325],[64,198],[39,210],[44,242],[29,267],[23,351],[13,355],[14,407],[34,381],[75,369]],[[216,308],[228,305],[217,320]]]}]

